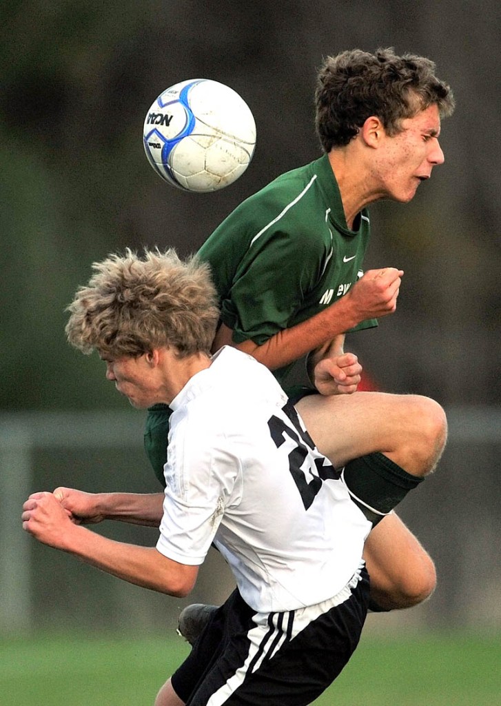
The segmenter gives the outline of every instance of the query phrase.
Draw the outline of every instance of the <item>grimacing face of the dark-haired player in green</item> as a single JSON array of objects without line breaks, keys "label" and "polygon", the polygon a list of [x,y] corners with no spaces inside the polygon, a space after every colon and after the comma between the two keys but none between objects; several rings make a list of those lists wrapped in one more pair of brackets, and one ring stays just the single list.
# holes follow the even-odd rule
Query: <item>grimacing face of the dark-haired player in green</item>
[{"label": "grimacing face of the dark-haired player in green", "polygon": [[383,198],[411,201],[421,181],[430,179],[433,167],[444,162],[438,143],[440,114],[431,105],[402,121],[402,131],[385,136],[376,157],[376,171]]}]

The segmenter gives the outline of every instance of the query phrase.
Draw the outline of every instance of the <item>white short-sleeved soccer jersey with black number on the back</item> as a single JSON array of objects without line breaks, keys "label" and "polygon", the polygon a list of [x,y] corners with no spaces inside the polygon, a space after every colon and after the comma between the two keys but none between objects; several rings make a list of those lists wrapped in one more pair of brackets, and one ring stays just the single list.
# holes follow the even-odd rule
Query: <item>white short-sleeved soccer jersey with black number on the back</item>
[{"label": "white short-sleeved soccer jersey with black number on the back", "polygon": [[214,542],[259,612],[337,594],[371,525],[272,373],[224,347],[170,407],[157,549],[198,565]]}]

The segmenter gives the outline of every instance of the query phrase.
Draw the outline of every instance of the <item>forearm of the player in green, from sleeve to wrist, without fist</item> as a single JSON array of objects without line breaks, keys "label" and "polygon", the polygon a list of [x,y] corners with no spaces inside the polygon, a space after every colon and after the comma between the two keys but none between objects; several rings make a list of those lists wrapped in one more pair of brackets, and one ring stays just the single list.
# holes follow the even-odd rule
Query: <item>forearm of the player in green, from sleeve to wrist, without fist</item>
[{"label": "forearm of the player in green, from sleeve to wrist, without fist", "polygon": [[347,297],[321,311],[307,321],[279,331],[262,345],[248,340],[236,345],[270,370],[294,362],[314,349],[330,345],[333,339],[353,328],[360,319]]}]

